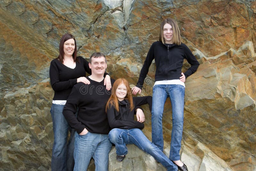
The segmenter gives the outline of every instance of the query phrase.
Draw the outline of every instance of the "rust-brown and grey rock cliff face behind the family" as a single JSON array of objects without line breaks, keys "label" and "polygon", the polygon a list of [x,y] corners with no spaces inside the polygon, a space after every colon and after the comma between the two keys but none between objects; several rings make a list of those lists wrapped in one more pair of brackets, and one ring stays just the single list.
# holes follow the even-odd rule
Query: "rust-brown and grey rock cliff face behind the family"
[{"label": "rust-brown and grey rock cliff face behind the family", "polygon": [[[0,2],[0,14],[0,170],[50,169],[53,91],[48,72],[62,34],[76,37],[79,55],[106,54],[110,75],[135,85],[150,45],[158,40],[160,23],[168,17],[178,21],[183,42],[200,62],[185,82],[181,159],[193,159],[189,170],[212,170],[212,163],[215,170],[256,170],[255,1],[6,0]],[[189,64],[183,66],[186,71]],[[143,95],[152,94],[154,72],[152,63]],[[151,116],[145,111],[143,131],[151,139]],[[171,113],[167,100],[167,154]],[[134,170],[161,170],[148,164],[152,159],[147,155],[129,149],[146,164],[137,168],[127,158],[127,166],[119,169],[133,163]]]}]

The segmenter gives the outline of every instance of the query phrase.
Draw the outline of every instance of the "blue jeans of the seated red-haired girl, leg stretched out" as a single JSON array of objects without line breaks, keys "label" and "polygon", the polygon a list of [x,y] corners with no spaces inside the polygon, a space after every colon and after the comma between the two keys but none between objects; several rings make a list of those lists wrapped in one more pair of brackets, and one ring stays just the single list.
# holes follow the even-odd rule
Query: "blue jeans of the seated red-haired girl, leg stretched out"
[{"label": "blue jeans of the seated red-haired girl, leg stretched out", "polygon": [[143,132],[138,129],[123,130],[114,128],[108,134],[109,140],[116,145],[116,154],[119,156],[128,153],[126,144],[134,144],[144,152],[147,152],[159,161],[168,171],[176,171],[178,168],[166,155],[157,148],[156,145],[151,143]]}]

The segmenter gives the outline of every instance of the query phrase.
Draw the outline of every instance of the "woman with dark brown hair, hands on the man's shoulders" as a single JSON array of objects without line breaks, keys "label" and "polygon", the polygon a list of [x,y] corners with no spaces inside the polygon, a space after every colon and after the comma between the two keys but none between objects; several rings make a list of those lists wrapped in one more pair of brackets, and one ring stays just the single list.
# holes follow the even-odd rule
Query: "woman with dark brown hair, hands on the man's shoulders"
[{"label": "woman with dark brown hair, hands on the man's shoulders", "polygon": [[[85,78],[86,72],[92,74],[89,63],[82,57],[76,56],[76,39],[72,34],[66,33],[60,39],[60,54],[53,59],[50,65],[50,80],[54,97],[52,100],[52,124],[54,142],[52,147],[52,171],[73,170],[74,168],[74,133],[62,115],[64,105],[72,87],[79,82],[90,84]],[[104,74],[105,76],[107,75]],[[105,77],[106,89],[110,90],[110,77]],[[68,130],[70,138],[68,139]]]}]

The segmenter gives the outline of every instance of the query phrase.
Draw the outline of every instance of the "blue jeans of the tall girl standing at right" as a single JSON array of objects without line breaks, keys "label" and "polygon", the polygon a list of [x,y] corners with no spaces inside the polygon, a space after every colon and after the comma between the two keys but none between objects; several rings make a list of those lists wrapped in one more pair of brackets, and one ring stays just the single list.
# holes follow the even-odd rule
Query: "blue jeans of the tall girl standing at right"
[{"label": "blue jeans of the tall girl standing at right", "polygon": [[182,85],[155,85],[152,101],[152,142],[164,150],[162,118],[167,97],[172,103],[172,138],[170,160],[180,160],[180,148],[183,130],[185,87]]}]

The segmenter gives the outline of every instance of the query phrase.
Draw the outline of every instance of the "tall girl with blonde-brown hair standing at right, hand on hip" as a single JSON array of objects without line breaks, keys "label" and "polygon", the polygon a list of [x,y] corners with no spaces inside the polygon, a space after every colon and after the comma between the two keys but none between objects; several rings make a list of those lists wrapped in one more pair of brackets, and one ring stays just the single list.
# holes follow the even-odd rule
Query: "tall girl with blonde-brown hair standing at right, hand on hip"
[{"label": "tall girl with blonde-brown hair standing at right, hand on hip", "polygon": [[[183,130],[183,108],[185,94],[185,80],[193,74],[199,63],[189,48],[181,43],[180,30],[174,19],[165,19],[160,28],[159,41],[154,42],[140,71],[137,86],[132,88],[135,95],[141,88],[148,74],[152,60],[156,62],[155,84],[153,86],[152,104],[152,142],[164,150],[162,118],[164,103],[169,97],[172,103],[172,137],[169,159],[182,171],[188,171],[187,166],[180,161],[180,148]],[[185,72],[181,72],[183,60],[187,59],[191,65]]]}]

